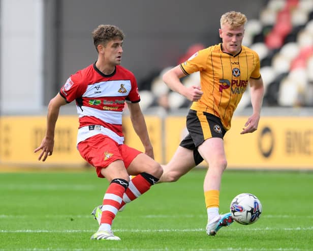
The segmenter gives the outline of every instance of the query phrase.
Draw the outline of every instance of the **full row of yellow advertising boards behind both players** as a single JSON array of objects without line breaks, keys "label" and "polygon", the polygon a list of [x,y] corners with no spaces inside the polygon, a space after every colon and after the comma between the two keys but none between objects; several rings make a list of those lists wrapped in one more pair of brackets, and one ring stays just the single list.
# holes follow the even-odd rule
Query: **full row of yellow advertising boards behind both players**
[{"label": "full row of yellow advertising boards behind both players", "polygon": [[[186,135],[185,117],[145,116],[154,158],[167,163]],[[313,118],[261,117],[254,133],[241,135],[247,117],[235,117],[224,137],[228,168],[313,170]],[[82,167],[85,160],[76,149],[77,116],[60,116],[55,129],[52,156],[38,161],[45,135],[45,116],[8,116],[0,119],[0,164]],[[123,117],[125,143],[144,151],[128,116]]]}]

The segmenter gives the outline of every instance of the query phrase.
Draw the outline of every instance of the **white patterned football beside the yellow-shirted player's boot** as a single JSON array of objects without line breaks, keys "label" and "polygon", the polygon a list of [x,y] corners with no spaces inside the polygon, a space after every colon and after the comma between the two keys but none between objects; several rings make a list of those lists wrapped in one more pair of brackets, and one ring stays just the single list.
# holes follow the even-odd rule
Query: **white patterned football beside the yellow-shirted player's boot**
[{"label": "white patterned football beside the yellow-shirted player's boot", "polygon": [[230,212],[233,219],[242,224],[254,224],[262,213],[260,200],[251,193],[238,194],[230,204]]}]

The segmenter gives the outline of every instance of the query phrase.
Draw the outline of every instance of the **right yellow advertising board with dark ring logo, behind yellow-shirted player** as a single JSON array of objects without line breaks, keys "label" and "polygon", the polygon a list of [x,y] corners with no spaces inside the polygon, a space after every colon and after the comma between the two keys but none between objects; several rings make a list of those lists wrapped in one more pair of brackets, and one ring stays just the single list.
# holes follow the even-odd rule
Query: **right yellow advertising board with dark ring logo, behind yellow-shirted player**
[{"label": "right yellow advertising board with dark ring logo, behind yellow-shirted player", "polygon": [[[228,168],[312,169],[313,118],[261,117],[254,133],[240,134],[247,117],[235,117],[224,137]],[[185,135],[185,118],[165,121],[166,162]]]}]

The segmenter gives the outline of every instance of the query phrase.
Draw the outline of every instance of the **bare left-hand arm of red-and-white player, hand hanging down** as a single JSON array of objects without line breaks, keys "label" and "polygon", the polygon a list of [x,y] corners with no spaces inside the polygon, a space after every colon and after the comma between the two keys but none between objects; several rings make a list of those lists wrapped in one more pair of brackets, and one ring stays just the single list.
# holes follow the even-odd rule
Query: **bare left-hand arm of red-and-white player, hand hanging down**
[{"label": "bare left-hand arm of red-and-white player, hand hanging down", "polygon": [[52,155],[54,147],[55,124],[58,118],[60,106],[65,104],[67,104],[66,100],[59,93],[49,102],[46,135],[43,138],[41,145],[34,150],[35,153],[42,150],[38,160],[42,159],[42,161],[45,161],[48,155]]}]

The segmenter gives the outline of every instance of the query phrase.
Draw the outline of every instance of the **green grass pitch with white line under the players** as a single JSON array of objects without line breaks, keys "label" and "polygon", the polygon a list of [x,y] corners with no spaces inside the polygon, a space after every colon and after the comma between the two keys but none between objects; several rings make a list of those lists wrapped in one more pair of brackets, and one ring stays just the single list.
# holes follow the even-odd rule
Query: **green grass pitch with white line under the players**
[{"label": "green grass pitch with white line under the players", "polygon": [[108,186],[95,172],[0,173],[0,250],[302,251],[313,250],[313,173],[224,173],[220,212],[241,192],[263,205],[253,225],[234,222],[207,236],[205,170],[153,186],[113,222],[121,241],[95,241],[90,212]]}]

